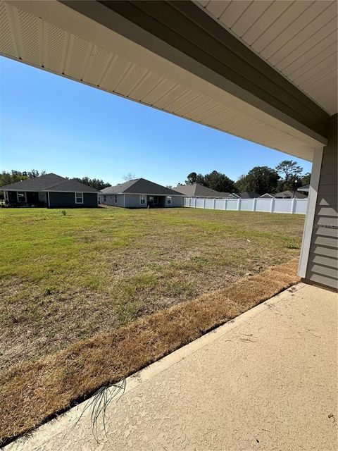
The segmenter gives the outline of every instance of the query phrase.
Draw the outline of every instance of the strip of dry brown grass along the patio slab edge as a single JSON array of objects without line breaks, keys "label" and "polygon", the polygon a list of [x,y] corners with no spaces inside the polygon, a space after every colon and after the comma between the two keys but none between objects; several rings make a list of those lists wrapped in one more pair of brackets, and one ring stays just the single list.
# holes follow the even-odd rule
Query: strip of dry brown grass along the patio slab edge
[{"label": "strip of dry brown grass along the patio slab edge", "polygon": [[0,443],[297,283],[297,260],[70,345],[1,377]]}]

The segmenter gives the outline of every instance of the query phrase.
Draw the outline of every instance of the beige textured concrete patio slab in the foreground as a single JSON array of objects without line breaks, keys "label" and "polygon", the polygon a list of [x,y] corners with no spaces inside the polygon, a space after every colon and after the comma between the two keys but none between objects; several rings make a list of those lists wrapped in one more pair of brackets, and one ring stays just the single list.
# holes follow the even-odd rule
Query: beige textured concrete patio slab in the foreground
[{"label": "beige textured concrete patio slab in the foreground", "polygon": [[337,450],[337,295],[300,283],[6,450]]}]

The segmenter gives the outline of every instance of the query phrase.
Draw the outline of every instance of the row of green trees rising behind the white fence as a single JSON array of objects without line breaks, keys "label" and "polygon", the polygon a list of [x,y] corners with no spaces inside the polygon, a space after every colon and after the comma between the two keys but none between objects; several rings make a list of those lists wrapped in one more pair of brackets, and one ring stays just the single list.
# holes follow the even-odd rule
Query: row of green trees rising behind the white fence
[{"label": "row of green trees rising behind the white fence", "polygon": [[310,173],[303,173],[303,168],[298,166],[296,161],[283,160],[275,168],[255,166],[248,173],[241,175],[236,182],[223,173],[212,171],[205,175],[191,172],[185,183],[199,183],[219,192],[250,191],[265,194],[296,191],[297,188],[310,183],[310,176]]}]

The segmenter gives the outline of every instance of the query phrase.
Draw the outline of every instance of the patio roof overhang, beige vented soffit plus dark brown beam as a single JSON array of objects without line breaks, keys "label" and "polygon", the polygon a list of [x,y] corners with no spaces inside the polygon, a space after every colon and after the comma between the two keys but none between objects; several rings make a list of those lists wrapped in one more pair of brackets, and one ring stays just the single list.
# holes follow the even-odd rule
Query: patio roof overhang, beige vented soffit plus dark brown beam
[{"label": "patio roof overhang, beige vented soffit plus dark brown beam", "polygon": [[327,143],[328,114],[192,1],[13,0],[1,17],[9,58],[309,161]]}]

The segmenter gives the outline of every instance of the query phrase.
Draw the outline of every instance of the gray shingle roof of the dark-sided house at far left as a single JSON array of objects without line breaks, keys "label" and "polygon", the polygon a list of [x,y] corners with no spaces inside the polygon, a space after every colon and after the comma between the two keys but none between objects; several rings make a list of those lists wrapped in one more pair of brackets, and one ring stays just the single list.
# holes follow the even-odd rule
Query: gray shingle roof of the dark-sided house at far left
[{"label": "gray shingle roof of the dark-sided house at far left", "polygon": [[54,173],[40,175],[35,178],[28,178],[21,182],[11,183],[11,185],[1,186],[0,190],[8,191],[70,191],[70,192],[98,192],[95,188],[77,182],[77,180],[68,180]]}]

